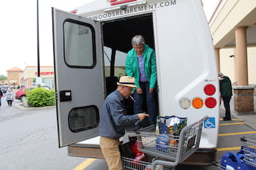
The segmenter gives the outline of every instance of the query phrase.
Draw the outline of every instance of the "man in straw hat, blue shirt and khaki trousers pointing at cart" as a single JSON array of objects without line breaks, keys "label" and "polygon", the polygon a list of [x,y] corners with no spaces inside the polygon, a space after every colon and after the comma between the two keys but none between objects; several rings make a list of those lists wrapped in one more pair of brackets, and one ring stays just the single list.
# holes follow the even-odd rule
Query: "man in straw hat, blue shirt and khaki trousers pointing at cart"
[{"label": "man in straw hat, blue shirt and khaki trousers pointing at cart", "polygon": [[121,170],[121,155],[119,152],[119,137],[124,136],[124,125],[131,125],[143,120],[149,115],[124,115],[124,98],[128,98],[135,85],[133,77],[124,76],[117,82],[118,88],[105,99],[99,120],[99,144],[109,170]]}]

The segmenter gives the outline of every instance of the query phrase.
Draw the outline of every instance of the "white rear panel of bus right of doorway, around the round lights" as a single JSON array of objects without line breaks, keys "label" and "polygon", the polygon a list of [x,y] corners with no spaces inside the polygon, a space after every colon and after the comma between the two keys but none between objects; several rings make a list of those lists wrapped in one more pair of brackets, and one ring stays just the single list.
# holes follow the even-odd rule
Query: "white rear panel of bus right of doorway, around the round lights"
[{"label": "white rear panel of bus right of doorway, around the round lights", "polygon": [[[188,124],[208,115],[200,148],[217,147],[219,127],[219,80],[214,47],[200,0],[176,1],[176,4],[154,12],[154,28],[161,115],[188,117]],[[204,87],[214,85],[212,96]],[[215,98],[217,106],[182,109],[181,98]]]}]

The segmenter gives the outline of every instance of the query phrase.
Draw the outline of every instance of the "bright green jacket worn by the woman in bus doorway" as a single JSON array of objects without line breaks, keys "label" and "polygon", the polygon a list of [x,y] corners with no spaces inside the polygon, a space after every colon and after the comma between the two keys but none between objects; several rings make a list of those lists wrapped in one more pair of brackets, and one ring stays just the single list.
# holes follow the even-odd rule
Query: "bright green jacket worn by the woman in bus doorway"
[{"label": "bright green jacket worn by the woman in bus doorway", "polygon": [[[154,50],[148,45],[144,45],[143,49],[143,64],[146,77],[148,78],[149,88],[156,88],[157,84],[157,63],[156,54]],[[132,48],[127,53],[126,61],[126,72],[127,76],[135,77],[135,85],[140,88],[140,69],[137,54]]]}]

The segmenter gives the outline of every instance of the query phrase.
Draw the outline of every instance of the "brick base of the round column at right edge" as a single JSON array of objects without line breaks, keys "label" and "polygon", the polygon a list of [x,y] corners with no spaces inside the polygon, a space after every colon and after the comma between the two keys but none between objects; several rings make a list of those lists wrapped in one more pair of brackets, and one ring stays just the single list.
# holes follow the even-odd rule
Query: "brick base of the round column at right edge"
[{"label": "brick base of the round column at right edge", "polygon": [[233,86],[234,107],[238,115],[254,114],[253,93],[255,85]]}]

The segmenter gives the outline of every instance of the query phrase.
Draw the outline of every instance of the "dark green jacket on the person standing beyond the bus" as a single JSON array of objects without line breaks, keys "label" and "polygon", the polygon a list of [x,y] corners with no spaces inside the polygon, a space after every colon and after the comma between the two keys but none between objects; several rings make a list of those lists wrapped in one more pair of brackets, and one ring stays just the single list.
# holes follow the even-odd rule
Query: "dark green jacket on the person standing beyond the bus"
[{"label": "dark green jacket on the person standing beyond the bus", "polygon": [[232,96],[232,85],[230,78],[223,76],[222,80],[219,80],[219,90],[222,97]]}]

